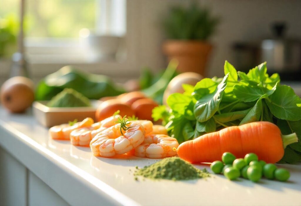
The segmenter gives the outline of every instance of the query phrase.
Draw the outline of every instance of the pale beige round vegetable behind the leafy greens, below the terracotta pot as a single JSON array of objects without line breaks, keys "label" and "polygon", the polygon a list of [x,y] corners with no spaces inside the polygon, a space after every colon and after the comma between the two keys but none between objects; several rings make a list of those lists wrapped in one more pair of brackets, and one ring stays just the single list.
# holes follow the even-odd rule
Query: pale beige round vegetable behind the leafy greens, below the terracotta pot
[{"label": "pale beige round vegetable behind the leafy greens, below the terracotta pot", "polygon": [[166,90],[164,91],[163,104],[166,104],[166,100],[169,97],[169,95],[173,93],[183,93],[184,92],[184,89],[182,87],[183,84],[194,86],[197,84],[197,82],[201,81],[202,79],[203,79],[202,75],[194,72],[185,72],[177,75],[169,82]]}]

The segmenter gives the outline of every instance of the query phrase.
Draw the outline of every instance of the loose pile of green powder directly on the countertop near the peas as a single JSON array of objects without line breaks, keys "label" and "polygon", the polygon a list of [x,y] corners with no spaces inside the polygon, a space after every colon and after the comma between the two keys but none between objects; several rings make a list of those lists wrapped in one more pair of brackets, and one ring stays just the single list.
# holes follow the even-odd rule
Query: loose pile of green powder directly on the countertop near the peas
[{"label": "loose pile of green powder directly on the countertop near the peas", "polygon": [[209,177],[209,173],[206,169],[199,170],[192,164],[178,157],[164,158],[155,164],[138,169],[134,175],[151,179],[167,180],[193,180]]}]

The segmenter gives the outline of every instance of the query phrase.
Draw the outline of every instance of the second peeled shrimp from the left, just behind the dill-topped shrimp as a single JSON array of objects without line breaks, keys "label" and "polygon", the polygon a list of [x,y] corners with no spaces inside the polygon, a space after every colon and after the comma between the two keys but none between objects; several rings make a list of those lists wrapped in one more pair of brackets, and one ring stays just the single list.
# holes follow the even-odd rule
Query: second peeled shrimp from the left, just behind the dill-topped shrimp
[{"label": "second peeled shrimp from the left, just behind the dill-topped shrimp", "polygon": [[90,146],[90,141],[93,139],[93,137],[105,129],[116,125],[118,118],[122,117],[120,115],[114,115],[94,123],[91,127],[79,128],[72,131],[70,134],[71,144],[76,146]]}]

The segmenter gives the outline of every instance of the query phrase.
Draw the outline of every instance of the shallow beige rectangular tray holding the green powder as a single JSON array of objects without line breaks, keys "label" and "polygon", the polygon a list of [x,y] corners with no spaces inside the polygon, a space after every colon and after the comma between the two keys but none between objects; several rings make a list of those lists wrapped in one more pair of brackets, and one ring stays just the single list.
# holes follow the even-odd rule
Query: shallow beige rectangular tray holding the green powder
[{"label": "shallow beige rectangular tray holding the green powder", "polygon": [[48,101],[36,101],[33,103],[35,118],[45,127],[61,125],[77,119],[91,117],[95,120],[95,112],[101,101],[91,100],[91,107],[48,107]]}]

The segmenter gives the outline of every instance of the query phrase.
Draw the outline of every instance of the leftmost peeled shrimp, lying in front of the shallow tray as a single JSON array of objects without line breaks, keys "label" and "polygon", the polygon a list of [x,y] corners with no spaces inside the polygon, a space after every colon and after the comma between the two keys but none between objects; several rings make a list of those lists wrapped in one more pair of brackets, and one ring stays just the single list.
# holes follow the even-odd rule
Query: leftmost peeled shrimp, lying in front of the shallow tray
[{"label": "leftmost peeled shrimp, lying in front of the shallow tray", "polygon": [[57,125],[49,129],[49,135],[55,140],[70,140],[70,133],[73,130],[83,127],[91,127],[93,123],[94,120],[88,117],[83,121],[74,123],[72,126],[69,124]]}]

